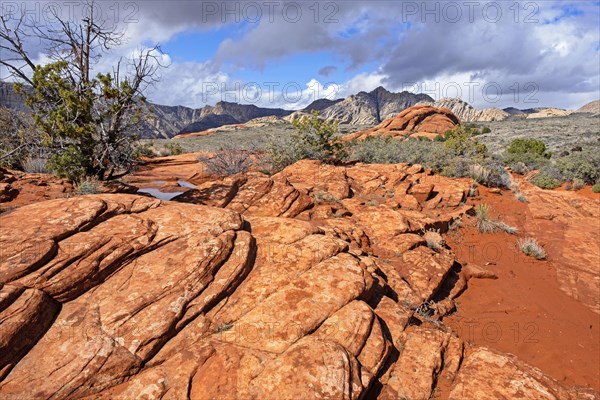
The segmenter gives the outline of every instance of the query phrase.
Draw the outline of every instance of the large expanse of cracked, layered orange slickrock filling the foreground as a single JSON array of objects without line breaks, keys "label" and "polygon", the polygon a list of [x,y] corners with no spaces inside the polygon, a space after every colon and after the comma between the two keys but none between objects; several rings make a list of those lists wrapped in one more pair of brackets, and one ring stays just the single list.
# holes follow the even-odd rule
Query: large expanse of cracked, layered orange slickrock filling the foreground
[{"label": "large expanse of cracked, layered orange slickrock filling the foreground", "polygon": [[[429,301],[451,307],[464,282],[424,230],[469,211],[469,186],[301,161],[180,202],[0,215],[0,398],[598,398],[439,320]],[[476,277],[493,274],[463,272]]]}]

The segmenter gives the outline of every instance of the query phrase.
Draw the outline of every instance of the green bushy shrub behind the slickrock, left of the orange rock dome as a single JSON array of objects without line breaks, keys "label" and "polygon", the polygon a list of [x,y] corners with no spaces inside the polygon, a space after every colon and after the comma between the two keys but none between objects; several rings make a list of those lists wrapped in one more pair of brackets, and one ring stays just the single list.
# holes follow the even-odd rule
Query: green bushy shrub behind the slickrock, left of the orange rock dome
[{"label": "green bushy shrub behind the slickrock, left of the orange rock dome", "polygon": [[267,142],[263,162],[278,171],[302,159],[333,163],[344,159],[346,146],[338,138],[338,122],[319,118],[318,111],[292,121],[289,137]]}]

